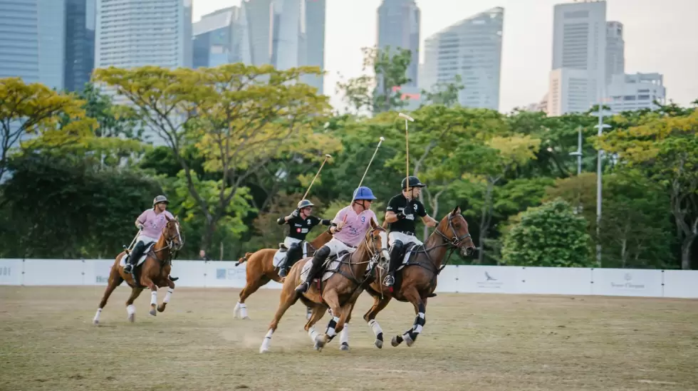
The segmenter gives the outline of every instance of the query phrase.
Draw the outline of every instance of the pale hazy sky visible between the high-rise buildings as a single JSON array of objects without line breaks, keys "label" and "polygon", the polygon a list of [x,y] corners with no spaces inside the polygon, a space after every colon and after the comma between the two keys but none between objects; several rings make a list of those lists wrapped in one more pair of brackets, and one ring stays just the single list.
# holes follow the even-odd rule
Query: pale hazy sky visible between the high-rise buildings
[{"label": "pale hazy sky visible between the high-rise buildings", "polygon": [[[193,0],[193,20],[241,0]],[[553,47],[553,6],[571,0],[416,0],[424,38],[474,14],[504,7],[499,110],[537,103],[548,91]],[[344,106],[338,81],[363,74],[361,48],[376,44],[381,0],[327,0],[325,95]],[[667,100],[698,99],[698,0],[607,0],[606,19],[625,26],[625,73],[664,75]]]}]

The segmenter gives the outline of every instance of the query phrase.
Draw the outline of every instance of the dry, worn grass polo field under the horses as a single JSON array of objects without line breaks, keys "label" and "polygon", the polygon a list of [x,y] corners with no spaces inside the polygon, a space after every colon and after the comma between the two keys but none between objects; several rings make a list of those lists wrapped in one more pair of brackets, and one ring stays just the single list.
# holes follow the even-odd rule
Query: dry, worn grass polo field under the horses
[{"label": "dry, worn grass polo field under the horses", "polygon": [[378,350],[362,295],[351,351],[320,353],[299,302],[261,355],[279,291],[248,299],[251,320],[233,318],[234,289],[179,288],[157,317],[145,291],[128,323],[129,291],[94,326],[103,288],[0,286],[0,390],[698,390],[697,301],[440,294],[411,348],[388,341],[412,306],[390,303]]}]

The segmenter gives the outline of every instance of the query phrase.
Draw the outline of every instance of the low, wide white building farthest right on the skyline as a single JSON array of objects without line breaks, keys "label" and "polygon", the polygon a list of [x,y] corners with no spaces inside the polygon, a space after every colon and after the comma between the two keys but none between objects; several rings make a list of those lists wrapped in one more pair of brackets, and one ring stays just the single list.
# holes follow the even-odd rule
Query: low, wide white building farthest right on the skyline
[{"label": "low, wide white building farthest right on the skyline", "polygon": [[613,75],[608,85],[608,105],[613,113],[648,108],[654,110],[657,103],[666,103],[667,90],[660,73],[635,73]]}]

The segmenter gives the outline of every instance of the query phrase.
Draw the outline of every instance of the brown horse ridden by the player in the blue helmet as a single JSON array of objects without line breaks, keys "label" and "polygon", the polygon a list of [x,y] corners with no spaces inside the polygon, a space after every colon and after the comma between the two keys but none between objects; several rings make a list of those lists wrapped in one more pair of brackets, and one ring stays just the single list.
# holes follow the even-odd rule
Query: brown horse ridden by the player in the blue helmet
[{"label": "brown horse ridden by the player in the blue helmet", "polygon": [[[384,246],[387,246],[387,233],[371,219],[371,229],[366,233],[358,248],[350,255],[340,258],[337,268],[328,270],[333,273],[326,281],[320,282],[328,271],[321,271],[318,283],[311,284],[306,293],[296,293],[295,288],[301,282],[303,266],[311,259],[306,258],[296,262],[289,271],[288,278],[283,282],[276,314],[269,324],[269,331],[264,336],[259,353],[269,351],[271,335],[276,331],[279,320],[281,320],[283,313],[286,313],[286,310],[293,306],[299,298],[306,306],[313,308],[312,316],[303,329],[308,332],[315,343],[316,350],[321,351],[337,333],[343,331],[345,323],[348,323],[354,303],[365,288],[367,281],[365,272],[369,264],[377,263],[381,256],[390,261],[390,254]],[[316,332],[314,325],[325,315],[328,308],[332,311],[333,318],[330,319],[325,333],[320,335]],[[343,343],[341,348],[348,350],[348,344]]]}]

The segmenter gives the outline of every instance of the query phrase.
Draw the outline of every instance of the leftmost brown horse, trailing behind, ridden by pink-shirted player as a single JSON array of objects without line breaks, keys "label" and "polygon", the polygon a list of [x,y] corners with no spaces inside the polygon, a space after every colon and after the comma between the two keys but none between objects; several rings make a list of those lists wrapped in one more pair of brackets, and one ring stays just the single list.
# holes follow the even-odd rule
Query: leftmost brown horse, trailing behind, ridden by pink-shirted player
[{"label": "leftmost brown horse, trailing behind, ridden by pink-shirted player", "polygon": [[[175,290],[175,283],[173,283],[169,277],[170,270],[172,269],[172,256],[182,249],[184,245],[182,235],[179,233],[179,219],[177,219],[177,217],[175,217],[175,219],[170,219],[167,215],[165,218],[167,219],[167,224],[165,224],[165,227],[162,229],[160,239],[147,251],[145,254],[145,261],[133,269],[133,274],[124,273],[124,268],[120,265],[121,259],[125,256],[126,251],[122,251],[116,256],[112,270],[109,273],[109,283],[104,291],[104,296],[102,296],[102,301],[100,301],[100,306],[97,309],[95,318],[93,319],[95,325],[99,323],[100,313],[102,313],[102,308],[107,304],[109,296],[123,281],[126,281],[128,286],[131,287],[131,296],[126,301],[128,320],[131,322],[135,320],[136,307],[133,305],[133,301],[135,301],[144,288],[149,288],[151,291],[150,315],[155,316],[157,315],[155,312],[157,306],[157,288],[162,288],[163,286],[169,287],[162,304],[157,306],[157,311],[165,311],[165,306],[170,302],[172,292]],[[168,249],[170,251],[165,251]]]}]

